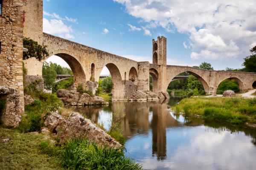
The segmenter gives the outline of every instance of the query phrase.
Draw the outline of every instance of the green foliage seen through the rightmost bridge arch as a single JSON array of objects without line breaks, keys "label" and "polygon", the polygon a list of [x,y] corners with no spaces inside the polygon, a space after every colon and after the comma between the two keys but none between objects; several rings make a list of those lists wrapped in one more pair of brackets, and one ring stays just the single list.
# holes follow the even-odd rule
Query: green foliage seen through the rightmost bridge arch
[{"label": "green foliage seen through the rightmost bridge arch", "polygon": [[223,94],[226,90],[233,90],[234,92],[239,92],[239,84],[235,79],[225,79],[222,81],[217,88],[217,94]]}]

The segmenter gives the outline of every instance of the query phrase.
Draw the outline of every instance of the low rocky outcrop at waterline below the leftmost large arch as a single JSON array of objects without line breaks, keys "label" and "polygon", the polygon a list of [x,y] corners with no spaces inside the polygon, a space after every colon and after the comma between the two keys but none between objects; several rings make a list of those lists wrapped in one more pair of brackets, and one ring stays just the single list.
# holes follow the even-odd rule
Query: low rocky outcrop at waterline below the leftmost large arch
[{"label": "low rocky outcrop at waterline below the leftmost large arch", "polygon": [[90,96],[89,94],[80,94],[76,90],[60,89],[57,91],[57,96],[65,103],[69,105],[108,105],[102,97]]}]

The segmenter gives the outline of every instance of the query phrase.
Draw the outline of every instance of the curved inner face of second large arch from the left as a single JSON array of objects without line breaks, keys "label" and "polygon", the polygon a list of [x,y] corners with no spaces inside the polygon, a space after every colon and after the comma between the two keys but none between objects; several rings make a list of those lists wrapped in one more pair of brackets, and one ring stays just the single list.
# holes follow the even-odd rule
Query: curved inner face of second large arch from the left
[{"label": "curved inner face of second large arch from the left", "polygon": [[119,69],[113,63],[108,63],[106,67],[111,74],[113,82],[112,100],[123,99],[123,83]]}]

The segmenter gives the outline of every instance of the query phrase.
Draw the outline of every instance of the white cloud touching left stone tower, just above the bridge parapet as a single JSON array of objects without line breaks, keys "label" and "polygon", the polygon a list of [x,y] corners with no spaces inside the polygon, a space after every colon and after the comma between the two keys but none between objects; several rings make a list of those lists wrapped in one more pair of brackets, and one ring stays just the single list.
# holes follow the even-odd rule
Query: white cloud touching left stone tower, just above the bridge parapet
[{"label": "white cloud touching left stone tower, just above the bridge parapet", "polygon": [[48,34],[57,35],[62,38],[75,38],[72,33],[73,29],[71,26],[67,26],[63,23],[62,20],[52,19],[47,20],[46,18],[43,19],[43,31]]}]

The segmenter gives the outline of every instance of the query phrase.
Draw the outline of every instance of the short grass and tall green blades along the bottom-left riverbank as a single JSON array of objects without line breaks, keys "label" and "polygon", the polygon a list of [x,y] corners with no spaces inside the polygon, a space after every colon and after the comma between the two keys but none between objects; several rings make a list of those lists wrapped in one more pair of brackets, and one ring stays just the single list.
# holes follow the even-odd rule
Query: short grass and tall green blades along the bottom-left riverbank
[{"label": "short grass and tall green blades along the bottom-left riverbank", "polygon": [[64,146],[52,144],[40,133],[20,133],[0,128],[0,169],[38,170],[140,170],[141,166],[124,156],[123,150],[99,147],[86,139],[73,138]]}]

